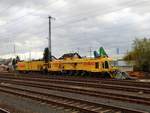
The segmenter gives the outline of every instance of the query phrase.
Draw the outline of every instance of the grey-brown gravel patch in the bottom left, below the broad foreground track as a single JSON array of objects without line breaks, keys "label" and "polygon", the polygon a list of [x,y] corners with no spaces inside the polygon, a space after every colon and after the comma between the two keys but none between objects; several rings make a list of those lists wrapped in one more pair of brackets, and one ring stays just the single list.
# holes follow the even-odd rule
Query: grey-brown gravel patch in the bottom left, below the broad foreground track
[{"label": "grey-brown gravel patch in the bottom left, below the broad foreground track", "polygon": [[[48,105],[39,101],[0,92],[0,106],[15,108],[12,113],[78,113],[78,111]],[[11,110],[12,111],[12,110]]]}]

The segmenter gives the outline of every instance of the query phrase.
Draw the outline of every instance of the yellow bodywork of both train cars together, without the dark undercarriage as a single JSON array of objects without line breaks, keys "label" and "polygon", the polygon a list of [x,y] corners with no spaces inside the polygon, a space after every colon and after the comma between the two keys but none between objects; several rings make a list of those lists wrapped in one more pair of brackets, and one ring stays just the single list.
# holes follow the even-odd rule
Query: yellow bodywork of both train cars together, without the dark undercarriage
[{"label": "yellow bodywork of both train cars together, without the dark undercarriage", "polygon": [[42,71],[48,72],[62,71],[86,71],[86,72],[111,72],[114,67],[111,66],[111,58],[66,58],[53,60],[45,63],[44,61],[22,61],[17,63],[18,71]]}]

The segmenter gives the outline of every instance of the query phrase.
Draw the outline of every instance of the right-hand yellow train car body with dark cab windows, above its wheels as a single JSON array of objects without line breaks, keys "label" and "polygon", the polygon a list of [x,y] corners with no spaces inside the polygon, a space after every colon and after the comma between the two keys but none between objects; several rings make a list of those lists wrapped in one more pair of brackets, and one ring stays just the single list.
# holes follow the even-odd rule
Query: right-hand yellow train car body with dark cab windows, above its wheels
[{"label": "right-hand yellow train car body with dark cab windows, above its wheels", "polygon": [[88,72],[111,71],[110,58],[67,58],[61,61],[62,70],[83,70]]}]

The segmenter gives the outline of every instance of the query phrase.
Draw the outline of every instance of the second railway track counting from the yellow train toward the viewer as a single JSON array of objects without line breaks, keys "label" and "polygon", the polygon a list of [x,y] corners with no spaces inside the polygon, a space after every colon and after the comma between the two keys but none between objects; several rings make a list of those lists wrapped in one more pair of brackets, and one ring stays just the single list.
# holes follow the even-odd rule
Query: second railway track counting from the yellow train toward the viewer
[{"label": "second railway track counting from the yellow train toward the viewer", "polygon": [[[142,92],[142,93],[150,93],[150,86],[129,86],[129,85],[116,85],[111,83],[103,83],[100,81],[99,83],[93,82],[86,82],[86,81],[72,81],[72,80],[60,80],[60,79],[40,79],[40,78],[28,78],[28,77],[14,77],[14,76],[0,76],[0,79],[19,79],[19,80],[26,80],[26,81],[37,81],[37,82],[44,82],[44,83],[57,83],[57,84],[67,84],[67,85],[77,85],[77,86],[85,86],[85,87],[93,87],[93,88],[105,88],[105,89],[114,89],[114,90],[123,90],[123,91],[130,91],[130,92]],[[118,82],[118,81],[114,81]],[[131,81],[130,81],[131,82]]]}]

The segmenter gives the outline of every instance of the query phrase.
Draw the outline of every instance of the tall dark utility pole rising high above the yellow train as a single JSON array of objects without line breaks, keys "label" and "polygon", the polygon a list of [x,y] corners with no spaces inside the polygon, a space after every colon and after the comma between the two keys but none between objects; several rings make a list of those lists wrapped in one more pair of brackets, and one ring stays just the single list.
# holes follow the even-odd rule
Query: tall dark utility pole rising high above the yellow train
[{"label": "tall dark utility pole rising high above the yellow train", "polygon": [[49,18],[49,41],[48,41],[48,49],[49,49],[49,54],[50,54],[50,61],[52,61],[52,48],[51,48],[51,20],[55,19],[51,16]]}]

